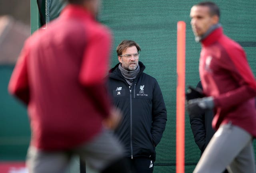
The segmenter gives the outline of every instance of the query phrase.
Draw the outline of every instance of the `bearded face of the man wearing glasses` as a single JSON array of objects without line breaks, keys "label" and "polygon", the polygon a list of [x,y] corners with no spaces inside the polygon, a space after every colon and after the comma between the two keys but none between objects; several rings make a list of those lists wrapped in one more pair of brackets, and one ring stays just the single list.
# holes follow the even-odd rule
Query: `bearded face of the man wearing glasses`
[{"label": "bearded face of the man wearing glasses", "polygon": [[122,63],[122,67],[127,71],[134,71],[138,67],[139,59],[134,58],[134,53],[138,53],[136,46],[128,47],[125,51],[122,52],[122,55],[132,55],[131,59],[127,59],[125,56],[118,56],[119,62]]}]

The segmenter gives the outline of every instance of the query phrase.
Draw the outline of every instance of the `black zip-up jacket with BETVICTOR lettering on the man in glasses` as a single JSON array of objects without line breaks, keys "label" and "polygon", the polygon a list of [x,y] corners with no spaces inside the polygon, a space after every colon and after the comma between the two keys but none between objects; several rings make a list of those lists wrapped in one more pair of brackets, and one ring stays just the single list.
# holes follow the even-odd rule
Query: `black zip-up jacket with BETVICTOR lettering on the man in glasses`
[{"label": "black zip-up jacket with BETVICTOR lettering on the man in glasses", "polygon": [[115,133],[125,147],[126,157],[146,156],[155,160],[155,146],[162,138],[167,120],[162,92],[156,79],[143,73],[145,66],[140,61],[140,72],[132,86],[126,83],[118,65],[108,75],[108,91],[123,113]]}]

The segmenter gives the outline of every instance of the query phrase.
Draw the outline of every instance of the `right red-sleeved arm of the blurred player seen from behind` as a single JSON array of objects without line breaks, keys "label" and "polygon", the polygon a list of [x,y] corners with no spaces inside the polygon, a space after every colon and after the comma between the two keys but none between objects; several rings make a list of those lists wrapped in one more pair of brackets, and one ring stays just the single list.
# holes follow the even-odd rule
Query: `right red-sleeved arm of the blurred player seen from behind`
[{"label": "right red-sleeved arm of the blurred player seen from behind", "polygon": [[110,99],[106,91],[106,77],[111,48],[110,33],[93,33],[88,38],[80,70],[80,83],[102,116],[110,114]]}]

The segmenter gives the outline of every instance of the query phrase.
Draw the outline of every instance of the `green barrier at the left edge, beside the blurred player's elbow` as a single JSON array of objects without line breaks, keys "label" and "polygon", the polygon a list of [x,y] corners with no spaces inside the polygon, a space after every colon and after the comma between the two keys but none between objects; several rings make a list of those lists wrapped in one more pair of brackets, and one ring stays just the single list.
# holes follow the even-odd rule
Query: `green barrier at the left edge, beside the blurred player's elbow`
[{"label": "green barrier at the left edge, beside the blurred player's elbow", "polygon": [[13,66],[0,66],[0,160],[24,160],[30,142],[26,108],[8,94]]}]

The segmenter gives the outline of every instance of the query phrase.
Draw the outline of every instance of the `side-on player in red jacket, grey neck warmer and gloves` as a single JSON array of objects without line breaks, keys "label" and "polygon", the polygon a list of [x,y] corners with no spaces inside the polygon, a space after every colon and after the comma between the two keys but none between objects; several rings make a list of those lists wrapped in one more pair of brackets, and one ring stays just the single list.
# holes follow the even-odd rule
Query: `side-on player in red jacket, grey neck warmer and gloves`
[{"label": "side-on player in red jacket, grey neck warmer and gloves", "polygon": [[256,81],[242,47],[224,35],[220,10],[201,2],[190,10],[196,41],[202,44],[199,73],[204,97],[188,101],[189,114],[214,109],[216,131],[194,173],[255,173]]}]

